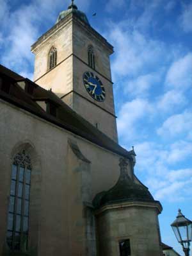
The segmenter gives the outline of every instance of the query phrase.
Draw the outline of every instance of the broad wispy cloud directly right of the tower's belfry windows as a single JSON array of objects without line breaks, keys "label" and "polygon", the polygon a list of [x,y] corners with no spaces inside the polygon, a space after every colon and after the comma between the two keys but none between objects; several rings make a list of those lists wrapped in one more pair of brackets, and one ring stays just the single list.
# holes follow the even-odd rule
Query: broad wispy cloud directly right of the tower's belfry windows
[{"label": "broad wispy cloud directly right of the tower's belfry windows", "polygon": [[[125,26],[127,24],[127,26]],[[163,44],[145,37],[142,33],[129,28],[129,21],[111,24],[109,41],[115,46],[115,58],[112,63],[115,80],[118,77],[138,75],[148,67],[154,67],[163,54]]]}]

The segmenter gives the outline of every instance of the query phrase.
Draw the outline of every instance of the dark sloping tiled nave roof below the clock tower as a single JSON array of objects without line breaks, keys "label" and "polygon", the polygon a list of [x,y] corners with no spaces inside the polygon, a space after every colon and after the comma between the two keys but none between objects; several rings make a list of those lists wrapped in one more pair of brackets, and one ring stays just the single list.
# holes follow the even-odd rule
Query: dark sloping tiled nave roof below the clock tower
[{"label": "dark sloping tiled nave roof below the clock tower", "polygon": [[[23,78],[19,76],[19,74],[10,71],[10,69],[6,69],[3,65],[0,65],[0,77],[4,79],[6,77],[6,83],[9,83],[9,79],[15,81],[12,83],[12,90],[10,94],[6,94],[0,88],[0,98],[4,99],[16,105],[17,107],[23,108],[24,110],[31,112],[32,114],[45,119],[51,123],[60,126],[76,135],[87,139],[90,142],[93,142],[102,148],[106,148],[118,155],[121,155],[126,158],[132,158],[131,153],[126,149],[122,148],[115,141],[110,139],[107,135],[100,132],[95,126],[86,121],[81,115],[77,114],[68,107],[56,94],[51,92],[50,90],[45,90],[42,87],[36,85],[33,81]],[[30,86],[34,87],[33,90],[30,90],[31,94],[27,92],[26,89],[22,89],[19,86],[19,81],[23,81],[26,83],[26,86],[30,84]],[[47,114],[37,103],[36,101],[40,100],[49,100],[52,101],[57,107],[57,117],[52,116],[51,114]]]}]

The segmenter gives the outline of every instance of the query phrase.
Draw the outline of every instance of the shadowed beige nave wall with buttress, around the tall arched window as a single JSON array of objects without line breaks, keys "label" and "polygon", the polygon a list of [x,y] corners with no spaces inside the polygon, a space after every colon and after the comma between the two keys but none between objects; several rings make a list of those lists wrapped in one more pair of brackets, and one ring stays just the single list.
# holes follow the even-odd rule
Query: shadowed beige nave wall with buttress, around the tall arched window
[{"label": "shadowed beige nave wall with buttress, around the tall arched window", "polygon": [[[0,252],[6,247],[13,155],[27,149],[33,163],[30,250],[47,256],[95,255],[94,250],[90,254],[95,242],[89,205],[95,194],[115,185],[119,156],[4,101],[0,117]],[[74,155],[69,139],[90,164]]]}]

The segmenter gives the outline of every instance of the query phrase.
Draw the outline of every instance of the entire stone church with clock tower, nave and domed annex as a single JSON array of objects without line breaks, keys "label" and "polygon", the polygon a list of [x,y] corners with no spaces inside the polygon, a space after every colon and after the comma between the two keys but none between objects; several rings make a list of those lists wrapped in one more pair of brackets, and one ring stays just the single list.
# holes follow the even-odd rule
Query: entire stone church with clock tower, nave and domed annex
[{"label": "entire stone church with clock tower, nave and domed annex", "polygon": [[118,144],[113,46],[73,2],[31,47],[34,82],[0,66],[0,255],[163,255],[161,204]]}]

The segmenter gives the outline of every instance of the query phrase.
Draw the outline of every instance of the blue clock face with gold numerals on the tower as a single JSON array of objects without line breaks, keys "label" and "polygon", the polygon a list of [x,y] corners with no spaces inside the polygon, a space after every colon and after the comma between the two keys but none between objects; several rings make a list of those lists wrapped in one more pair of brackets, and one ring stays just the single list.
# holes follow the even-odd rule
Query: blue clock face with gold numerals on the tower
[{"label": "blue clock face with gold numerals on the tower", "polygon": [[104,89],[104,85],[98,76],[87,71],[83,74],[83,83],[88,94],[90,94],[93,99],[96,101],[104,101],[106,98],[106,90]]}]

